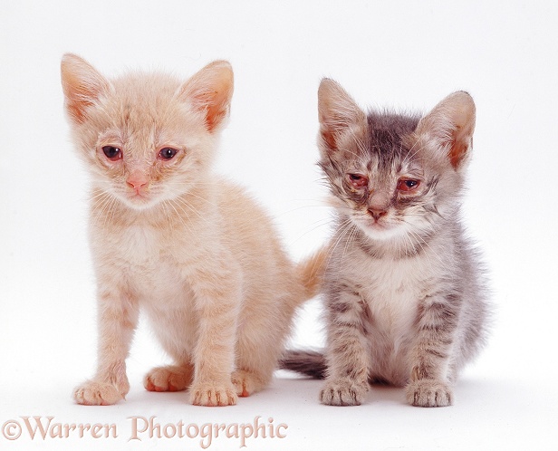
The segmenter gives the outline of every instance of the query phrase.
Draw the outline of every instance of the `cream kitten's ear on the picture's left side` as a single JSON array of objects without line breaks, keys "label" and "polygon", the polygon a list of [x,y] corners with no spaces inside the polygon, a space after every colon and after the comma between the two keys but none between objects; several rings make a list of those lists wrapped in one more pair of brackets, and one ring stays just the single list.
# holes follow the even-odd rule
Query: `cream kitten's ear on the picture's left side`
[{"label": "cream kitten's ear on the picture's left side", "polygon": [[72,53],[63,56],[61,72],[66,110],[74,122],[82,123],[87,107],[110,89],[109,82],[89,62]]}]

